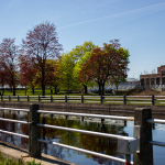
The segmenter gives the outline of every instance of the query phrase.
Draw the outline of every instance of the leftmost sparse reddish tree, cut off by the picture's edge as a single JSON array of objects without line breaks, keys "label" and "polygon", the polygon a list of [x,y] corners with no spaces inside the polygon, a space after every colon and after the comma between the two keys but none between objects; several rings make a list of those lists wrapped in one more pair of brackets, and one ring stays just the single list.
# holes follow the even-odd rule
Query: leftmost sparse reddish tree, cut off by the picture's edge
[{"label": "leftmost sparse reddish tree, cut off by the picture's edge", "polygon": [[15,38],[3,38],[0,44],[0,67],[6,73],[7,84],[13,88],[15,96],[15,87],[18,85],[18,46],[14,44]]}]

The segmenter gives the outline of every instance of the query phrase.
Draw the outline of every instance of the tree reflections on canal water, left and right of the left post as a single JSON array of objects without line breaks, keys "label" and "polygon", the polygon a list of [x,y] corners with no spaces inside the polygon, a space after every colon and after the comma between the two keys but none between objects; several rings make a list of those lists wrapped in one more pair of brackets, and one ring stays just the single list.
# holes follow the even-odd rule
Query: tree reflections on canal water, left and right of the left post
[{"label": "tree reflections on canal water, left and right of the left post", "polygon": [[[15,120],[28,120],[28,114],[24,112],[20,112],[18,114],[16,112],[7,112],[6,114],[2,112],[1,118],[8,118],[8,119],[15,119]],[[87,121],[79,121],[79,120],[66,120],[62,117],[46,117],[41,114],[40,119],[41,123],[45,124],[52,124],[52,125],[59,125],[59,127],[66,127],[66,128],[74,128],[74,129],[81,129],[81,130],[89,130],[95,132],[105,132],[105,133],[111,133],[111,134],[120,134],[120,135],[129,135],[124,132],[123,125],[114,125],[114,124],[102,124],[100,122],[87,122]],[[29,134],[28,124],[19,124],[19,123],[11,123],[11,122],[4,122],[0,121],[0,129],[7,130],[11,132],[22,133],[22,134]],[[121,155],[117,152],[117,140],[108,139],[108,138],[100,138],[100,136],[94,136],[82,133],[75,133],[75,132],[68,132],[68,131],[62,131],[62,130],[55,130],[55,129],[47,129],[42,128],[41,129],[41,138],[44,140],[48,140],[52,142],[58,142],[62,144],[67,144],[107,155],[112,155],[116,157],[124,158],[124,155]],[[28,139],[0,133],[0,140],[28,148],[29,141]],[[88,155],[81,152],[69,152],[69,150],[66,150],[64,147],[51,145],[41,143],[42,152],[48,155],[53,155],[58,158],[66,158],[66,157],[73,157],[76,155],[85,155],[87,158],[92,160],[94,162],[97,162],[98,164],[118,164],[121,165],[122,163],[112,162],[102,157]]]}]

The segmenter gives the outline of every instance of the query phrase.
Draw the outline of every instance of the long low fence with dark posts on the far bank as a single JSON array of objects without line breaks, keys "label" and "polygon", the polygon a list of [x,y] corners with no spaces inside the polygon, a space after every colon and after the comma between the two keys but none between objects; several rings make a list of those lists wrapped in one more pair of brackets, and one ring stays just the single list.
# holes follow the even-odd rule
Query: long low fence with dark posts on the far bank
[{"label": "long low fence with dark posts on the far bank", "polygon": [[1,101],[165,106],[165,96],[1,96]]}]

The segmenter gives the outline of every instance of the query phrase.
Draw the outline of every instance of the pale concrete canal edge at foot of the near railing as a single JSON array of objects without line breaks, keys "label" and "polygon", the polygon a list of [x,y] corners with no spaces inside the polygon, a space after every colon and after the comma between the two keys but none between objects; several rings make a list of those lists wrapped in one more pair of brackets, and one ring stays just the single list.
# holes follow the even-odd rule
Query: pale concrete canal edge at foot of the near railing
[{"label": "pale concrete canal edge at foot of the near railing", "polygon": [[35,160],[35,163],[41,163],[42,165],[77,165],[75,163],[70,163],[46,154],[42,154],[41,158],[30,157],[28,150],[1,141],[0,152],[4,157],[10,157],[15,161],[19,161],[22,157],[23,162],[31,162]]}]

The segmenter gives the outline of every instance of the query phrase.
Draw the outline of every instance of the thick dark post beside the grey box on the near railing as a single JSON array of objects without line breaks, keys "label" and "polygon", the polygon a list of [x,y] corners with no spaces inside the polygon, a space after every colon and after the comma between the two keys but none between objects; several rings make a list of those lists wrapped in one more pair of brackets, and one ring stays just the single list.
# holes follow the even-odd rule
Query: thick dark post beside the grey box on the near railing
[{"label": "thick dark post beside the grey box on the near railing", "polygon": [[134,125],[140,127],[140,153],[133,154],[135,165],[153,165],[153,145],[147,143],[152,141],[152,124],[146,119],[152,119],[151,109],[135,108]]}]

